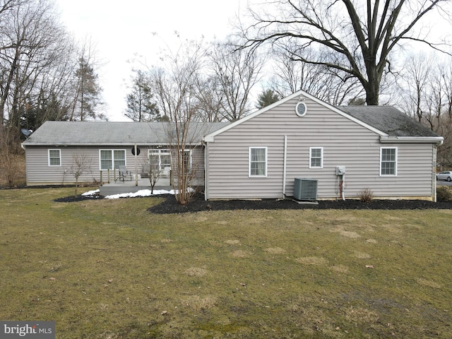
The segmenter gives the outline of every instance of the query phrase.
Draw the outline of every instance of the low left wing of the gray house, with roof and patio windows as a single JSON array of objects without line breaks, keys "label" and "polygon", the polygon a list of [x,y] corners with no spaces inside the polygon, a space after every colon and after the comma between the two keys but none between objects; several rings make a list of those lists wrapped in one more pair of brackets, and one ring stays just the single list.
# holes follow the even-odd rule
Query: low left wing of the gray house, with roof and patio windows
[{"label": "low left wing of the gray house, with roof and patio windows", "polygon": [[[194,185],[204,185],[202,137],[226,125],[190,125],[185,152],[196,169]],[[174,143],[169,122],[46,121],[22,143],[27,185],[74,184],[77,171],[78,182],[114,182],[120,166],[136,179],[135,173],[148,175],[150,158],[167,177]]]}]

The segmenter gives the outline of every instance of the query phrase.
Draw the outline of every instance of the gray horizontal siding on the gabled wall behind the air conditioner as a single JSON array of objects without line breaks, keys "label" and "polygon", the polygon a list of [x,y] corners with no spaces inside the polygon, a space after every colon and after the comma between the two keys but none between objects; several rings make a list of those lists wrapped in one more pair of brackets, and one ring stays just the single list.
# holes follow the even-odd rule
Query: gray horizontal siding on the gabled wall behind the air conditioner
[{"label": "gray horizontal siding on the gabled wall behind the air conditioner", "polygon": [[[336,166],[345,166],[345,197],[369,188],[374,196],[432,197],[432,143],[381,143],[374,131],[307,100],[297,117],[297,100],[224,131],[208,144],[207,198],[283,198],[284,139],[287,136],[285,196],[296,177],[317,179],[318,197],[340,198]],[[249,177],[249,147],[268,148],[265,178]],[[309,148],[323,148],[323,168],[309,169]],[[380,176],[380,148],[398,148],[398,175]]]}]

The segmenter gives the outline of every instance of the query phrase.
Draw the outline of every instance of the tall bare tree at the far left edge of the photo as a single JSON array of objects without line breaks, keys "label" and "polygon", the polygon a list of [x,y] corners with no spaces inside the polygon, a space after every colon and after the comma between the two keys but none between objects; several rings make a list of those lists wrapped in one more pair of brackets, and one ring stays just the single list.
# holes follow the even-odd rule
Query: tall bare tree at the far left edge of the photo
[{"label": "tall bare tree at the far left edge of the photo", "polygon": [[0,119],[15,129],[34,102],[44,74],[64,51],[66,31],[57,22],[54,4],[22,1],[2,15],[0,49]]}]

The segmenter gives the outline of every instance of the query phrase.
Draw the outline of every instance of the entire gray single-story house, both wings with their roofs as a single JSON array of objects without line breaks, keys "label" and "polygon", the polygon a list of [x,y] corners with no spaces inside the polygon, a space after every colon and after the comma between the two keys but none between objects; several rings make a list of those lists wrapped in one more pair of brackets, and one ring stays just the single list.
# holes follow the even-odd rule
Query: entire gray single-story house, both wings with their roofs
[{"label": "entire gray single-story house, both wings with their roofs", "polygon": [[[85,181],[114,176],[119,165],[144,174],[134,169],[134,145],[139,163],[157,155],[164,170],[170,126],[47,121],[23,143],[27,184],[73,182],[73,155],[81,153],[91,160]],[[434,201],[444,138],[393,107],[333,107],[299,91],[230,124],[193,124],[190,140],[196,185],[208,200],[357,198],[367,189],[374,198]]]}]

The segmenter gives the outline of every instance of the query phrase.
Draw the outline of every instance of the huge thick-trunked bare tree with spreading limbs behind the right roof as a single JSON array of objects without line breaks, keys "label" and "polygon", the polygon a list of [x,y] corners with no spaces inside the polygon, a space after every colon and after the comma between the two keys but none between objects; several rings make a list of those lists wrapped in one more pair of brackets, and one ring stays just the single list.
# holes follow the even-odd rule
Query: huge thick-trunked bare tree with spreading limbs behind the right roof
[{"label": "huge thick-trunked bare tree with spreading limbs behind the right roof", "polygon": [[[447,4],[448,0],[275,0],[250,8],[253,23],[241,31],[244,47],[251,50],[269,42],[285,49],[293,60],[348,73],[364,88],[367,105],[379,105],[382,78],[391,71],[391,54],[404,41],[447,47],[430,40],[429,28],[421,26],[434,10],[448,15]],[[332,58],[304,54],[307,47],[319,50],[319,55],[328,52]]]}]

